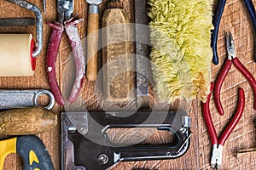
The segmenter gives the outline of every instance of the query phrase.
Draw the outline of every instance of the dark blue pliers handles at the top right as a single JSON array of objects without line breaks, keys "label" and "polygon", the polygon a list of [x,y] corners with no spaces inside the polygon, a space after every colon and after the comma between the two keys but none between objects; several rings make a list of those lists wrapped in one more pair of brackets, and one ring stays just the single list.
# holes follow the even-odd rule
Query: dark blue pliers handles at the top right
[{"label": "dark blue pliers handles at the top right", "polygon": [[[256,33],[256,13],[253,6],[252,0],[243,0],[247,7],[248,14],[250,15],[251,22],[253,24],[254,34]],[[218,27],[224,11],[226,0],[218,0],[217,8],[213,14],[212,24],[214,30],[212,31],[212,62],[214,65],[218,65],[218,52],[217,52],[217,41],[218,41]],[[254,37],[255,39],[255,37]],[[256,42],[254,42],[254,61],[256,62]]]}]

